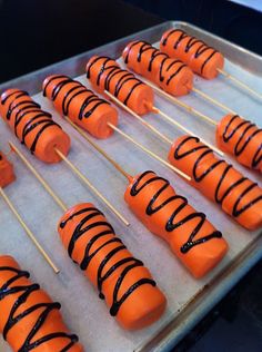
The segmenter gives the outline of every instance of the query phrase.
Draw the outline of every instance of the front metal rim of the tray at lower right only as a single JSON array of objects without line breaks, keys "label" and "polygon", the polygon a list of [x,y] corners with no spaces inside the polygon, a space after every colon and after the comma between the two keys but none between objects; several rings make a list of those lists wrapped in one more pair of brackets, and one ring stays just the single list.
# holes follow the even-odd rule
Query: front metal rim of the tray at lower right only
[{"label": "front metal rim of the tray at lower right only", "polygon": [[[232,263],[218,273],[203,290],[198,292],[174,319],[134,352],[171,351],[261,258],[262,233],[241,251]],[[212,283],[214,283],[213,286]],[[210,293],[213,295],[212,300],[209,300]],[[155,349],[153,344],[158,348]]]}]

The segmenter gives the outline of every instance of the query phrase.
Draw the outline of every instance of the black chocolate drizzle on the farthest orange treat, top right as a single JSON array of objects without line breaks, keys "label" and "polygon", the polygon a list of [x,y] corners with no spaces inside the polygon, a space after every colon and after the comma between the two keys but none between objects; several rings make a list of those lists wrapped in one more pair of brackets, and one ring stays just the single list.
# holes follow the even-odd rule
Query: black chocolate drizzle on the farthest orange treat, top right
[{"label": "black chocolate drizzle on the farthest orange treat, top right", "polygon": [[[174,29],[174,30],[171,30],[169,32],[168,36],[165,36],[164,39],[162,39],[161,43],[163,47],[167,46],[167,42],[169,40],[169,38],[175,33],[175,32],[180,32],[180,37],[178,38],[178,40],[173,43],[173,48],[177,50],[178,49],[178,46],[180,45],[180,42],[183,40],[183,39],[189,39],[188,40],[188,43],[185,46],[185,50],[184,52],[191,52],[195,59],[198,59],[201,55],[203,55],[205,51],[208,50],[211,50],[210,52],[210,56],[204,60],[204,62],[201,65],[201,74],[203,72],[203,69],[205,67],[205,65],[211,60],[211,58],[216,53],[219,52],[218,50],[215,50],[214,48],[212,47],[209,47],[205,42],[203,42],[202,40],[200,39],[196,39],[195,37],[191,37],[191,36],[188,36],[183,30],[181,29]],[[194,46],[195,45],[199,45],[201,43],[201,46],[194,51]]]}]

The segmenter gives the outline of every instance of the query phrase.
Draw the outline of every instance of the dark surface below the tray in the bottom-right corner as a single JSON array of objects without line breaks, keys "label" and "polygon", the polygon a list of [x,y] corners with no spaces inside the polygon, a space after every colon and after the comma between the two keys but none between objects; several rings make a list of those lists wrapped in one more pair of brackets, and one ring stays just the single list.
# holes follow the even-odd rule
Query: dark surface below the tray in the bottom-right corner
[{"label": "dark surface below the tray in the bottom-right corner", "polygon": [[261,352],[261,282],[262,261],[173,349],[173,352]]}]

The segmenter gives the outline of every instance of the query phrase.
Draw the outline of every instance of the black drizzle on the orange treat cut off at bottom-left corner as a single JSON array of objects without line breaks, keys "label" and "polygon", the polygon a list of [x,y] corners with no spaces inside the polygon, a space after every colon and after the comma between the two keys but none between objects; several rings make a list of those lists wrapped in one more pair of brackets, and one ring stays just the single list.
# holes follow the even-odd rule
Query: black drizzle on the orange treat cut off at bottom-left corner
[{"label": "black drizzle on the orange treat cut off at bottom-left corner", "polygon": [[[28,316],[30,316],[31,313],[40,310],[42,311],[41,314],[39,315],[32,330],[30,331],[29,335],[23,341],[18,352],[29,352],[33,349],[37,349],[39,345],[44,344],[48,341],[51,341],[54,339],[61,339],[61,338],[69,340],[69,343],[67,344],[67,346],[64,346],[61,350],[61,352],[69,351],[78,342],[78,336],[74,334],[67,334],[66,332],[50,333],[32,342],[32,340],[34,340],[34,336],[38,334],[38,332],[41,331],[41,327],[44,325],[46,320],[48,319],[49,314],[54,310],[60,310],[61,307],[60,303],[57,303],[57,302],[37,303],[34,305],[31,305],[28,310],[21,312],[23,303],[30,299],[30,295],[33,292],[39,291],[40,286],[38,284],[19,285],[19,283],[14,285],[16,282],[19,282],[21,277],[28,278],[30,276],[28,272],[24,272],[14,267],[0,266],[0,273],[1,272],[13,273],[13,276],[0,287],[0,301],[3,301],[6,297],[12,294],[20,294],[11,309],[7,323],[3,326],[3,339],[7,340],[9,331],[16,324],[18,324],[23,319],[27,319]],[[21,313],[18,313],[18,311],[20,311]]]}]

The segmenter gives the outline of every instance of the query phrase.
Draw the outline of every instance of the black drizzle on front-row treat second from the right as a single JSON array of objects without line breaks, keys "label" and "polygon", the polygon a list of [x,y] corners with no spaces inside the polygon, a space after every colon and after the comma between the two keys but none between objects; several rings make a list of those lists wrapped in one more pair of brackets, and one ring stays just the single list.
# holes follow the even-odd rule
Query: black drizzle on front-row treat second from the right
[{"label": "black drizzle on front-row treat second from the right", "polygon": [[[205,159],[206,155],[213,154],[213,150],[211,150],[208,146],[205,145],[200,145],[193,149],[188,149],[184,153],[181,153],[181,148],[187,145],[188,141],[190,140],[194,140],[196,143],[200,141],[199,138],[196,137],[187,137],[185,139],[183,139],[175,148],[174,150],[174,159],[179,160],[184,158],[188,155],[198,153],[199,150],[203,150],[203,153],[198,157],[198,159],[195,159],[194,166],[193,166],[193,178],[195,182],[200,183],[204,177],[206,177],[210,173],[214,172],[218,167],[220,167],[221,165],[223,165],[223,168],[220,168],[219,170],[215,170],[215,173],[220,173],[220,179],[216,184],[215,187],[215,194],[214,194],[214,198],[215,202],[220,205],[222,205],[223,201],[228,197],[228,195],[230,195],[230,193],[235,188],[238,189],[238,187],[242,184],[244,184],[246,180],[249,180],[248,177],[243,177],[242,175],[240,176],[240,178],[231,184],[230,187],[225,188],[224,187],[224,182],[228,177],[229,172],[233,168],[232,165],[228,164],[225,160],[222,159],[215,159],[215,162],[210,166],[206,167],[205,169],[203,169],[203,165],[202,162]],[[201,165],[201,173],[199,173],[199,165]],[[233,205],[232,208],[232,216],[238,217],[240,216],[242,213],[244,213],[245,211],[248,211],[250,207],[252,207],[253,205],[255,205],[258,202],[262,201],[262,194],[260,196],[258,196],[256,198],[253,198],[251,202],[248,202],[245,204],[242,205],[242,207],[239,207],[240,202],[242,201],[242,198],[249,194],[250,192],[252,192],[253,188],[255,188],[258,186],[256,183],[251,183],[249,184],[246,187],[244,187],[243,190],[239,190],[239,197],[236,199],[236,202]],[[239,189],[241,189],[242,187],[240,187]],[[224,189],[222,192],[222,189]],[[221,194],[221,195],[220,195]]]}]

